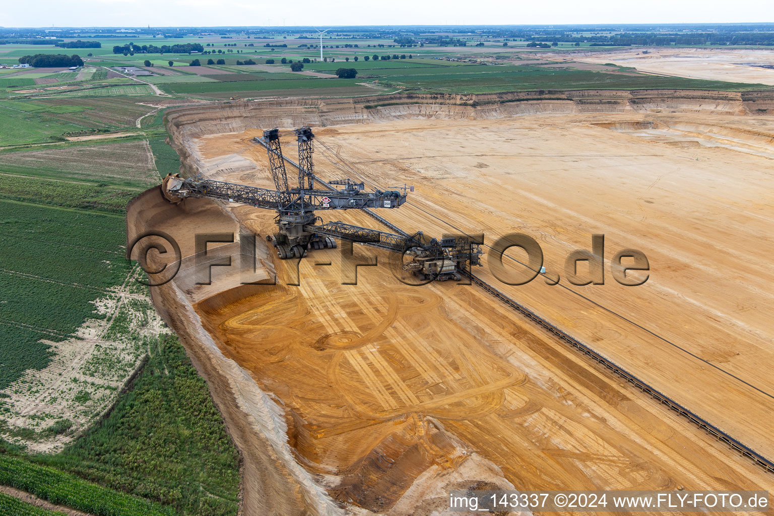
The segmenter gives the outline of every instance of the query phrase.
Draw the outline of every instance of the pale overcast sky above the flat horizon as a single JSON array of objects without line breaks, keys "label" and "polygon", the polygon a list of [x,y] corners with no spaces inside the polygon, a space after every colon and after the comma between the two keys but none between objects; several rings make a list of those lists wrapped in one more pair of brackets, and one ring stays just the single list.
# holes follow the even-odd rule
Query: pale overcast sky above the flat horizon
[{"label": "pale overcast sky above the flat horizon", "polygon": [[346,26],[774,22],[774,0],[27,0],[0,26]]}]

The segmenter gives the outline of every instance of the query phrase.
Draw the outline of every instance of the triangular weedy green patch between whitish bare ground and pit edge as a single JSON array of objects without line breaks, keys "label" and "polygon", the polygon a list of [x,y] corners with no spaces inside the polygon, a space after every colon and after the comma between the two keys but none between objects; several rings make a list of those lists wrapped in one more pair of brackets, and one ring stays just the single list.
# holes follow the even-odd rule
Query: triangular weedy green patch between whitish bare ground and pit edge
[{"label": "triangular weedy green patch between whitish bare ground and pit edge", "polygon": [[149,347],[148,364],[111,415],[59,455],[39,460],[177,514],[237,514],[238,453],[207,384],[176,337]]}]

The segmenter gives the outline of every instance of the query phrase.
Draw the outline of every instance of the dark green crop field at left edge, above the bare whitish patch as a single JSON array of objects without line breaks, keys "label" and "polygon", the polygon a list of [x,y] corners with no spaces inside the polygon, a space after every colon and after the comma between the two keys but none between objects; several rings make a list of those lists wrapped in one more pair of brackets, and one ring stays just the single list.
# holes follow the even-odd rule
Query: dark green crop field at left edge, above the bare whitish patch
[{"label": "dark green crop field at left edge, above the bare whitish patch", "polygon": [[[5,195],[18,195],[14,189]],[[100,318],[91,301],[131,268],[124,226],[114,214],[0,200],[0,299],[14,299],[0,315],[0,388],[46,366],[50,352],[40,339],[63,340],[87,318]]]}]

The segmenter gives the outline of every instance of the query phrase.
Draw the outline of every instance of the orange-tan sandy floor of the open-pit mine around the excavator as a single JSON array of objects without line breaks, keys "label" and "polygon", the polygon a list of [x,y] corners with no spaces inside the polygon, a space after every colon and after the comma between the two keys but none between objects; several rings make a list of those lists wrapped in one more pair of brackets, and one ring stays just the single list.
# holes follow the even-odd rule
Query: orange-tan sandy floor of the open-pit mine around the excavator
[{"label": "orange-tan sandy floor of the open-pit mine around the excavator", "polygon": [[[261,116],[293,127],[303,108]],[[605,234],[608,261],[619,248],[641,249],[652,265],[645,285],[618,285],[606,262],[605,285],[570,286],[708,363],[556,286],[511,287],[488,268],[477,274],[772,455],[771,398],[727,374],[772,390],[765,374],[772,278],[762,267],[758,282],[750,282],[739,265],[770,263],[772,250],[759,241],[772,217],[771,196],[759,194],[771,180],[768,118],[630,113],[448,121],[416,119],[412,110],[407,118],[414,119],[405,121],[318,129],[330,150],[317,146],[317,173],[332,179],[356,171],[379,186],[413,183],[411,205],[390,210],[389,220],[434,235],[454,231],[441,220],[488,238],[522,231],[543,246],[552,274],[564,276],[563,258],[590,249],[592,233]],[[214,177],[268,186],[264,151],[241,152],[258,131],[233,132],[238,123],[225,116],[213,124],[220,131],[195,136],[201,127],[180,123],[176,142],[187,162]],[[284,143],[293,155],[290,140]],[[130,231],[272,231],[273,215],[262,210],[183,204],[164,204],[149,191],[130,207]],[[336,215],[374,226],[358,214]],[[240,275],[226,268],[212,285],[194,285],[197,265],[188,258],[173,282],[153,289],[245,456],[245,507],[430,514],[446,507],[447,490],[471,485],[774,487],[770,473],[479,289],[410,287],[383,265],[358,268],[357,285],[343,285],[342,275],[351,279],[354,271],[339,265],[338,250],[310,254],[300,263],[300,285],[288,285],[296,272],[261,242],[253,278],[276,273],[277,285],[240,285]],[[183,247],[183,255],[193,254]],[[382,264],[389,259],[368,248],[354,252]],[[326,261],[331,265],[315,265]]]}]

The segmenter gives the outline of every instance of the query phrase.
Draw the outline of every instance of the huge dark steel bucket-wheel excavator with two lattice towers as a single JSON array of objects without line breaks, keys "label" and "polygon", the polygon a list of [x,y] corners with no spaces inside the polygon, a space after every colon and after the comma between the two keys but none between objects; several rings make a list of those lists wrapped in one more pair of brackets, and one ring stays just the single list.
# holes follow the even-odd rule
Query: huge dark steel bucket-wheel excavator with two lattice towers
[{"label": "huge dark steel bucket-wheel excavator with two lattice towers", "polygon": [[[302,258],[310,248],[335,248],[334,238],[340,238],[401,253],[409,258],[407,262],[404,260],[403,269],[420,279],[458,280],[461,279],[461,268],[481,265],[481,248],[464,236],[438,241],[435,238],[426,239],[421,232],[392,234],[338,221],[323,224],[315,211],[355,209],[366,210],[372,217],[394,227],[382,217],[372,214],[370,209],[401,206],[406,202],[406,190],[366,191],[363,183],[354,183],[351,179],[337,179],[330,183],[320,180],[313,172],[312,129],[303,127],[294,132],[298,141],[298,163],[283,156],[278,128],[269,129],[263,132],[262,138],[253,140],[263,145],[269,154],[276,190],[225,183],[202,176],[184,179],[180,174],[170,174],[161,185],[163,196],[172,203],[179,203],[188,197],[208,197],[276,210],[277,232],[266,239],[272,242],[282,259]],[[298,168],[298,187],[289,187],[286,161]],[[327,190],[316,189],[315,179]]]}]

